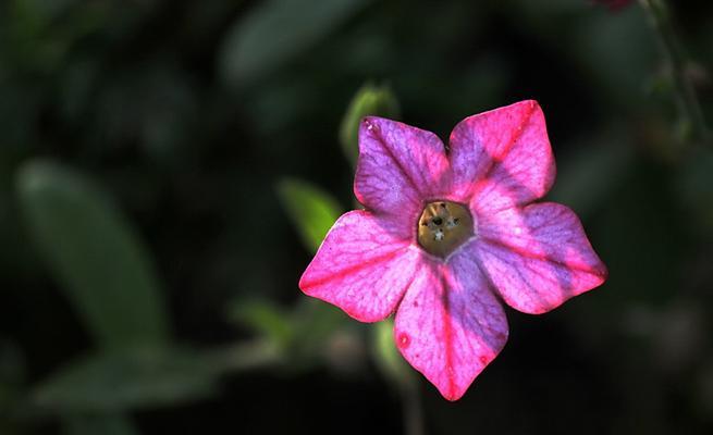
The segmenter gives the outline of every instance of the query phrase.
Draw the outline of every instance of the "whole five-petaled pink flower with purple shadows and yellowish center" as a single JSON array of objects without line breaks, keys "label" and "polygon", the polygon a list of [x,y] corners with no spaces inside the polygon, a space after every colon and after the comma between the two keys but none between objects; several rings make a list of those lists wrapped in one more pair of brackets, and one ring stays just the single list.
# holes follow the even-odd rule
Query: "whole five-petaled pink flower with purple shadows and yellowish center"
[{"label": "whole five-petaled pink flower with purple shadows and yellowish center", "polygon": [[501,301],[539,314],[606,278],[575,213],[532,203],[554,175],[536,101],[467,117],[447,148],[367,117],[354,182],[366,210],[336,221],[299,288],[361,322],[396,311],[404,358],[456,400],[507,340]]}]

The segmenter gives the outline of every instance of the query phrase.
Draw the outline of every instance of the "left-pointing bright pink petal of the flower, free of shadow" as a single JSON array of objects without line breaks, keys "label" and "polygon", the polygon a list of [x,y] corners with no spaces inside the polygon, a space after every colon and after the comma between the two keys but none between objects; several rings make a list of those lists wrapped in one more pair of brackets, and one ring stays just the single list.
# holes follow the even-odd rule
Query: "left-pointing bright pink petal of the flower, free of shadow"
[{"label": "left-pointing bright pink petal of the flower, free of shadow", "polygon": [[391,314],[413,279],[421,252],[364,210],[343,214],[299,279],[307,295],[361,322]]}]

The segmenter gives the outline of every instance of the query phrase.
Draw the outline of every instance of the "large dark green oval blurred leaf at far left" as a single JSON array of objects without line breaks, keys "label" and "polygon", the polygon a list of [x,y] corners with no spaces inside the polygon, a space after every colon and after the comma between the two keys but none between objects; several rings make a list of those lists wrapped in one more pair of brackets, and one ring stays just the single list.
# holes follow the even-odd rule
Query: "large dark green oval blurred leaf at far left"
[{"label": "large dark green oval blurred leaf at far left", "polygon": [[99,344],[164,341],[169,324],[153,263],[111,199],[49,162],[25,164],[16,183],[32,237]]}]

